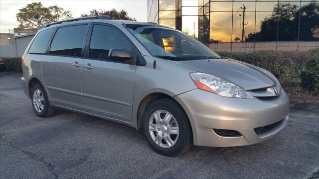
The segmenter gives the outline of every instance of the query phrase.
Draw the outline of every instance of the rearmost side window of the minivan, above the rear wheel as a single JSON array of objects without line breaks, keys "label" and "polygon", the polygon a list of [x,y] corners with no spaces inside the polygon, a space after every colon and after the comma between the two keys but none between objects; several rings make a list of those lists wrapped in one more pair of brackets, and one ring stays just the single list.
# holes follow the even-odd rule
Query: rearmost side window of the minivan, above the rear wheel
[{"label": "rearmost side window of the minivan, above the rear wheel", "polygon": [[30,46],[29,53],[45,54],[46,47],[48,46],[54,29],[55,28],[49,28],[39,32]]}]

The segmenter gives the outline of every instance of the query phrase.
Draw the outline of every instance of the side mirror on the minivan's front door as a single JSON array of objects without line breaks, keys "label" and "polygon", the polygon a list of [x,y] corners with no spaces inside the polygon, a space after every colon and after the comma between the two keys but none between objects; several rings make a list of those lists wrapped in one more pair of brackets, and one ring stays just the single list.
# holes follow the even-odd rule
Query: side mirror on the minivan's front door
[{"label": "side mirror on the minivan's front door", "polygon": [[109,59],[118,62],[125,62],[132,65],[135,64],[135,61],[132,60],[131,52],[121,48],[111,48],[109,51]]}]

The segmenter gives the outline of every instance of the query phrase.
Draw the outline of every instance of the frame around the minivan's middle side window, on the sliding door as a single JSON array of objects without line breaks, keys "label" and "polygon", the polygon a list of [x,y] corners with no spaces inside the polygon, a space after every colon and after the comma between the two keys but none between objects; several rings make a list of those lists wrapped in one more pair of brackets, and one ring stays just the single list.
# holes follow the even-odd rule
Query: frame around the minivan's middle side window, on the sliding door
[{"label": "frame around the minivan's middle side window, on the sliding door", "polygon": [[[67,55],[56,55],[56,54],[50,54],[50,49],[51,49],[51,45],[52,45],[52,41],[56,35],[56,32],[58,31],[59,28],[63,28],[63,27],[70,27],[70,26],[77,26],[77,25],[86,25],[86,30],[84,33],[84,38],[83,38],[83,42],[82,42],[82,50],[81,50],[81,56],[67,56]],[[53,32],[53,35],[51,36],[51,39],[49,41],[49,45],[46,49],[46,53],[45,55],[48,56],[58,56],[58,57],[69,57],[69,58],[84,58],[84,51],[85,51],[85,45],[86,45],[86,38],[88,36],[88,32],[89,32],[89,27],[90,27],[90,23],[89,22],[82,22],[82,23],[75,23],[75,24],[66,24],[66,25],[61,25],[56,27],[56,29]]]}]

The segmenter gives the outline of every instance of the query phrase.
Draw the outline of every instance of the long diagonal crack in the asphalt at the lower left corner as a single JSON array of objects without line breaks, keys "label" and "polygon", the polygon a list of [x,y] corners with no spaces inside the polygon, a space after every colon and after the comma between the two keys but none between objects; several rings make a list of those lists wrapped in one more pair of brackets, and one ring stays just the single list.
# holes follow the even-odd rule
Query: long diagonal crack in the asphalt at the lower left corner
[{"label": "long diagonal crack in the asphalt at the lower left corner", "polygon": [[22,154],[28,156],[30,159],[35,160],[37,162],[41,162],[48,169],[48,171],[54,176],[54,179],[58,179],[59,175],[57,173],[55,173],[53,164],[51,164],[50,162],[45,161],[44,157],[39,157],[39,156],[37,156],[36,154],[34,154],[34,153],[30,152],[30,151],[24,150],[24,149],[18,147],[17,145],[14,145],[13,143],[6,142],[6,140],[3,139],[3,135],[4,134],[5,133],[1,133],[0,134],[1,142],[3,142],[8,147],[11,147],[15,151],[20,151]]}]

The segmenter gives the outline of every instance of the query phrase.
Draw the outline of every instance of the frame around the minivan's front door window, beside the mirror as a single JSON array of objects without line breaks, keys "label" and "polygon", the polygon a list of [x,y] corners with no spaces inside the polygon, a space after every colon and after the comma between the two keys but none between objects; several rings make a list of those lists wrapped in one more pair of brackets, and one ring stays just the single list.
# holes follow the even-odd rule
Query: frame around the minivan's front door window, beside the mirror
[{"label": "frame around the minivan's front door window, beside the mirror", "polygon": [[123,37],[131,44],[132,49],[131,49],[131,58],[134,60],[134,65],[139,65],[137,63],[137,56],[140,53],[140,51],[138,50],[138,48],[134,45],[134,43],[130,40],[130,38],[118,27],[116,27],[115,25],[109,24],[109,23],[101,23],[101,22],[93,22],[89,24],[89,32],[87,35],[87,39],[86,39],[86,45],[85,45],[85,52],[83,54],[85,59],[89,59],[89,60],[98,60],[98,61],[102,61],[102,62],[113,62],[113,63],[122,63],[122,64],[128,64],[128,65],[132,65],[126,62],[119,62],[119,61],[114,61],[114,60],[108,60],[108,59],[96,59],[96,58],[90,58],[89,57],[89,50],[90,50],[90,43],[91,43],[91,37],[92,37],[92,33],[93,33],[93,27],[94,25],[104,25],[104,26],[108,26],[111,27],[113,29],[115,29],[116,31],[118,31],[119,33],[121,33],[123,35]]}]

